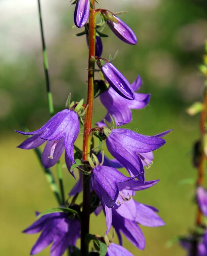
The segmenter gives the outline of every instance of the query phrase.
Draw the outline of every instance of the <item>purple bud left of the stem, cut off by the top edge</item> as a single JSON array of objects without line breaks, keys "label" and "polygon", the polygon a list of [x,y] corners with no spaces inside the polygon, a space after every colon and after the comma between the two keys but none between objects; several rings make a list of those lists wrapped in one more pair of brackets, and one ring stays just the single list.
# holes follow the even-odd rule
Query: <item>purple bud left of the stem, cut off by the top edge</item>
[{"label": "purple bud left of the stem, cut off by the top edge", "polygon": [[89,11],[90,0],[77,0],[74,12],[74,23],[76,27],[81,28],[85,25],[89,17]]}]

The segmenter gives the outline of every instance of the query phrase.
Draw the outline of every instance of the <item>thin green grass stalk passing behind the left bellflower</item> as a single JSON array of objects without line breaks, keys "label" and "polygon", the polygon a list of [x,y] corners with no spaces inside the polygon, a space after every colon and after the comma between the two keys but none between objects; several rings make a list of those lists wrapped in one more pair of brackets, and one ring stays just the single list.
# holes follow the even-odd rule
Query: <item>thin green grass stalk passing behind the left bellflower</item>
[{"label": "thin green grass stalk passing behind the left bellflower", "polygon": [[[37,3],[38,3],[39,23],[40,23],[41,40],[42,40],[43,65],[44,65],[44,72],[45,72],[47,101],[48,101],[49,113],[50,113],[50,116],[52,117],[54,115],[53,96],[50,91],[50,79],[49,79],[49,71],[48,71],[47,50],[46,50],[45,37],[44,37],[44,31],[43,31],[43,24],[42,24],[40,0],[37,0]],[[65,200],[64,200],[64,187],[63,187],[63,182],[62,182],[62,168],[60,165],[60,161],[57,162],[57,170],[58,170],[60,191],[61,191],[61,196],[62,196],[61,204],[63,205]]]}]

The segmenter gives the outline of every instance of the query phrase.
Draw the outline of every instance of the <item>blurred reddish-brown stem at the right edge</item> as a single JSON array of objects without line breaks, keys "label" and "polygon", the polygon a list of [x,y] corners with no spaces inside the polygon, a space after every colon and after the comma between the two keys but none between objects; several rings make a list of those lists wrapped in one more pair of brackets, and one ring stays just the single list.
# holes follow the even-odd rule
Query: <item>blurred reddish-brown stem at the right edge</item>
[{"label": "blurred reddish-brown stem at the right edge", "polygon": [[[206,167],[206,155],[204,153],[204,136],[206,135],[206,117],[207,117],[207,89],[205,88],[204,100],[203,100],[203,109],[200,115],[200,132],[202,140],[202,149],[200,153],[200,162],[198,166],[198,178],[196,181],[197,186],[204,185],[204,174]],[[202,224],[202,212],[198,207],[196,215],[196,225],[200,226]]]}]

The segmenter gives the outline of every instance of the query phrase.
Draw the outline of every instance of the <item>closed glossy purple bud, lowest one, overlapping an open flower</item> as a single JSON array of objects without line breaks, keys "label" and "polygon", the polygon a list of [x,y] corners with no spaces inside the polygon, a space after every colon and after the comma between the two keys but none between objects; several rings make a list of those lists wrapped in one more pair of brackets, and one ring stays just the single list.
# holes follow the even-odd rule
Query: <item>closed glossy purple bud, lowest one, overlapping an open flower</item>
[{"label": "closed glossy purple bud, lowest one, overlapping an open flower", "polygon": [[96,57],[96,60],[109,85],[122,97],[133,100],[135,98],[134,91],[122,73],[106,59]]}]

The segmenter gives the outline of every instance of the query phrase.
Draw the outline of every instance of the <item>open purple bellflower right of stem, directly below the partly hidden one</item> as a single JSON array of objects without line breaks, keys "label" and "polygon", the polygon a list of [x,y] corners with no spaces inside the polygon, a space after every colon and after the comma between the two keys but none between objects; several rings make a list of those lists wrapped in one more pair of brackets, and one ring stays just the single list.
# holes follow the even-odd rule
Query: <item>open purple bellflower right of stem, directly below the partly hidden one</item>
[{"label": "open purple bellflower right of stem, directly below the partly hidden one", "polygon": [[[108,151],[127,169],[131,176],[144,172],[143,160],[140,157],[143,153],[156,150],[165,143],[166,141],[157,135],[146,136],[129,129],[113,129],[106,139]],[[144,181],[144,175],[139,179]]]}]

